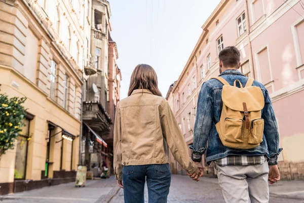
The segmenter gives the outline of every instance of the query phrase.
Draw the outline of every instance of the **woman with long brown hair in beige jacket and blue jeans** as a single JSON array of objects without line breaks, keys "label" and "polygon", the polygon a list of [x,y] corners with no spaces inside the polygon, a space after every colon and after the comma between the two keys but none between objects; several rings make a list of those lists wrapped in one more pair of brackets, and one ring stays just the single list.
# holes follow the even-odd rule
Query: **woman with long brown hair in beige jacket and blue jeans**
[{"label": "woman with long brown hair in beige jacket and blue jeans", "polygon": [[200,169],[189,158],[174,114],[158,89],[154,69],[139,64],[115,119],[113,164],[118,185],[124,188],[125,203],[144,202],[145,179],[149,202],[167,202],[171,182],[168,147],[198,181]]}]

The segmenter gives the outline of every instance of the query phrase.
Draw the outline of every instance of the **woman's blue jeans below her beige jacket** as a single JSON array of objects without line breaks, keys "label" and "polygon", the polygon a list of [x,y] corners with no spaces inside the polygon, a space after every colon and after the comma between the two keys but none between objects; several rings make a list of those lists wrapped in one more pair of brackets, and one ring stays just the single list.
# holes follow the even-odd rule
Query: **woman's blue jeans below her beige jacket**
[{"label": "woman's blue jeans below her beige jacket", "polygon": [[145,180],[147,180],[149,203],[166,203],[171,183],[168,163],[123,166],[125,203],[144,202]]}]

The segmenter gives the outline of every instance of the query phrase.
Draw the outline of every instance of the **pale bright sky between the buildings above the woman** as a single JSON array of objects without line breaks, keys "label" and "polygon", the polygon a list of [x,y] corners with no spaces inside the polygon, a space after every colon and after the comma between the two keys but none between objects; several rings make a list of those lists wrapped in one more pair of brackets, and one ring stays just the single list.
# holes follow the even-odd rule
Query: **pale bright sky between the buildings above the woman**
[{"label": "pale bright sky between the buildings above the woman", "polygon": [[151,65],[165,97],[181,74],[202,33],[202,25],[220,0],[108,0],[111,38],[118,47],[121,99],[139,63]]}]

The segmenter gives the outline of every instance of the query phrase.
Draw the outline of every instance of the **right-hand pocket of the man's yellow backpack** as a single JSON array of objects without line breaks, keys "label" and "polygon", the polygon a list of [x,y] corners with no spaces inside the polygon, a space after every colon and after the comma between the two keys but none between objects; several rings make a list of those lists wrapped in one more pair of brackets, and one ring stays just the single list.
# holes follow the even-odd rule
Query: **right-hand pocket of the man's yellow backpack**
[{"label": "right-hand pocket of the man's yellow backpack", "polygon": [[251,133],[248,137],[248,144],[259,144],[263,141],[264,119],[258,118],[251,121]]}]

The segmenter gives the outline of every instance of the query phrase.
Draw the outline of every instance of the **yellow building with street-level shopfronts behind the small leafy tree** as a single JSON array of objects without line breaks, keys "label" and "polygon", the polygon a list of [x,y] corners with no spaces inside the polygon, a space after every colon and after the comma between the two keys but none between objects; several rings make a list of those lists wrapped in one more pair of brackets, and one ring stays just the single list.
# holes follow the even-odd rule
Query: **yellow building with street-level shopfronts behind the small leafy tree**
[{"label": "yellow building with street-level shopfronts behind the small leafy tree", "polygon": [[0,93],[27,97],[20,137],[31,137],[1,157],[0,195],[74,180],[85,2],[0,0]]}]

